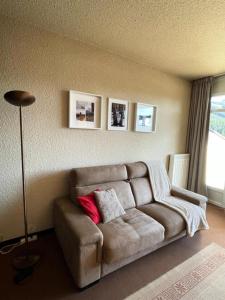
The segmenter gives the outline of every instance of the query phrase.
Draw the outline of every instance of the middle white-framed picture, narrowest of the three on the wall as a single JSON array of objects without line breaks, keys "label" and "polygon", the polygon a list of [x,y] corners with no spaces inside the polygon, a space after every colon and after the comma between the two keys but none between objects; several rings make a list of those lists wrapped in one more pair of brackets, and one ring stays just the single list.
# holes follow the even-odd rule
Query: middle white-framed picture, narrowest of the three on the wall
[{"label": "middle white-framed picture, narrowest of the three on the wall", "polygon": [[108,130],[127,130],[128,101],[109,98],[108,100]]}]

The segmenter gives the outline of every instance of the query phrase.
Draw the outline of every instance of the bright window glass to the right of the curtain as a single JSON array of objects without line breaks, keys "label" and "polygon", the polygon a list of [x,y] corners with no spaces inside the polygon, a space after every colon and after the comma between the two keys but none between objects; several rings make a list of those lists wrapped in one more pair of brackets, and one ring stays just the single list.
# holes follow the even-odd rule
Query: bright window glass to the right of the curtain
[{"label": "bright window glass to the right of the curtain", "polygon": [[225,188],[225,95],[211,98],[206,184]]}]

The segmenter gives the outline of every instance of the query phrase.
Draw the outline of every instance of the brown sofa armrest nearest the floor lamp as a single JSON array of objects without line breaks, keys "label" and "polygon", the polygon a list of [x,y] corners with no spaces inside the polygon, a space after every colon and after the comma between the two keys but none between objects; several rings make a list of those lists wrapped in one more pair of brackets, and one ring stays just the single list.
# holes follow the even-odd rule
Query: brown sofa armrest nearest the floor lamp
[{"label": "brown sofa armrest nearest the floor lamp", "polygon": [[103,235],[69,198],[54,203],[55,231],[75,283],[83,288],[101,277]]}]

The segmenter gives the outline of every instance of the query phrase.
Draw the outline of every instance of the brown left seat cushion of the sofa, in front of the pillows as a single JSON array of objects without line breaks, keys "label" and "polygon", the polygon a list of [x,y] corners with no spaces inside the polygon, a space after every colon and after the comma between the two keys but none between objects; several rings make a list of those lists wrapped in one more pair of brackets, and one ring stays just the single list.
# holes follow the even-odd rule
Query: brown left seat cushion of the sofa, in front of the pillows
[{"label": "brown left seat cushion of the sofa, in front of the pillows", "polygon": [[109,223],[97,225],[103,234],[103,261],[112,263],[164,240],[164,227],[143,212],[132,208]]}]

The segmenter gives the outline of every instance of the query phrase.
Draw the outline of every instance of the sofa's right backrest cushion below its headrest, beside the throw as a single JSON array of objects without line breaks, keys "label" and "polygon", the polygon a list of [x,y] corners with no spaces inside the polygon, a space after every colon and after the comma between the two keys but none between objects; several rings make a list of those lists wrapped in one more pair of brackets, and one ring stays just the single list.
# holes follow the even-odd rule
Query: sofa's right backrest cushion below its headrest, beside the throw
[{"label": "sofa's right backrest cushion below its headrest, beside the throw", "polygon": [[130,184],[137,206],[153,202],[152,190],[147,177],[131,179]]}]

